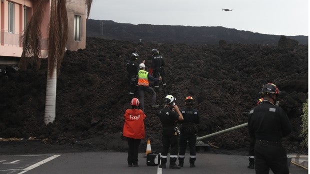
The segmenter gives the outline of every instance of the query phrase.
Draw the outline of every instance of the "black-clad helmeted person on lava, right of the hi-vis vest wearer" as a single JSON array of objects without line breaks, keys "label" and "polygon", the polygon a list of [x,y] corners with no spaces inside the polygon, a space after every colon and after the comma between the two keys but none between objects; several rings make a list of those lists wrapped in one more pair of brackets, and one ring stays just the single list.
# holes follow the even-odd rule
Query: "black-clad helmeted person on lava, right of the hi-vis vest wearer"
[{"label": "black-clad helmeted person on lava, right of the hi-vis vest wearer", "polygon": [[[164,60],[162,55],[159,55],[159,51],[157,49],[152,49],[151,51],[152,59],[151,59],[151,66],[150,66],[150,74],[153,74],[153,77],[158,78],[161,76],[162,86],[165,87],[166,83],[164,80]],[[154,81],[154,88],[155,92],[159,92],[159,81]]]}]

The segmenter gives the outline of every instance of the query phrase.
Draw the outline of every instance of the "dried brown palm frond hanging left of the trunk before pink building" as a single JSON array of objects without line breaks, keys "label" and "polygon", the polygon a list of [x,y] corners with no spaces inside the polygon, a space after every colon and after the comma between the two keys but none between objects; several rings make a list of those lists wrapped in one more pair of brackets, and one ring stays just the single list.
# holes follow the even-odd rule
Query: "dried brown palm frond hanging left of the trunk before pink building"
[{"label": "dried brown palm frond hanging left of the trunk before pink building", "polygon": [[[47,2],[48,3],[48,2]],[[46,0],[39,0],[38,5],[33,12],[29,23],[26,25],[25,31],[22,35],[22,53],[19,61],[19,68],[25,69],[28,64],[40,66],[40,54],[41,54],[41,23],[43,14],[45,11]]]}]

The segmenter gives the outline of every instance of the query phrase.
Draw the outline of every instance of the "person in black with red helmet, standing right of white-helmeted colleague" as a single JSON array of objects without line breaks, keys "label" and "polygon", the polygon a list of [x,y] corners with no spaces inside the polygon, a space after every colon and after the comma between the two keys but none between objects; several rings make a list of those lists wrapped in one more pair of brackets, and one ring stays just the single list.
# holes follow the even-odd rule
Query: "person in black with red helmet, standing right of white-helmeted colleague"
[{"label": "person in black with red helmet, standing right of white-helmeted colleague", "polygon": [[180,127],[180,139],[179,139],[179,156],[178,156],[178,166],[183,167],[184,155],[187,147],[189,148],[189,164],[190,168],[195,167],[196,161],[196,138],[197,138],[197,128],[196,124],[199,124],[199,112],[193,108],[194,100],[191,96],[185,98],[185,109],[181,110],[184,120],[179,121],[181,123]]}]

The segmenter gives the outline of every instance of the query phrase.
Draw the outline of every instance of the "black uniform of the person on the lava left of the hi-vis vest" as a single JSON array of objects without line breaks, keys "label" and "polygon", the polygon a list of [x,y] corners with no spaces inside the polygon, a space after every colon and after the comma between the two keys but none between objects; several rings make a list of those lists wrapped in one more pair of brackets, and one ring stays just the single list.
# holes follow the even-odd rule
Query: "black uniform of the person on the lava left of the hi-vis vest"
[{"label": "black uniform of the person on the lava left of the hi-vis vest", "polygon": [[134,94],[137,92],[138,71],[139,71],[138,63],[134,60],[130,60],[127,63],[127,72],[128,72],[128,79],[129,79],[129,96],[131,96],[131,98],[133,98]]}]

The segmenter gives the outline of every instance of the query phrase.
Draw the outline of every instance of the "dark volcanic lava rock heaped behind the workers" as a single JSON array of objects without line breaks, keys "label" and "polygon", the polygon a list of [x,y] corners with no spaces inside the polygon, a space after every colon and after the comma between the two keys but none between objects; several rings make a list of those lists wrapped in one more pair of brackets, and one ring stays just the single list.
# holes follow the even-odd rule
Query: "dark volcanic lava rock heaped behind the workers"
[{"label": "dark volcanic lava rock heaped behind the workers", "polygon": [[[36,137],[48,145],[125,151],[121,131],[130,101],[126,62],[136,50],[148,69],[152,48],[166,63],[167,92],[160,91],[157,102],[171,94],[182,108],[184,97],[191,95],[200,111],[199,137],[246,123],[246,112],[255,105],[261,86],[273,82],[282,91],[280,106],[293,125],[284,146],[289,152],[300,150],[301,107],[308,92],[308,48],[303,45],[189,46],[87,38],[86,49],[65,54],[57,78],[56,118],[47,126],[43,122],[46,60],[41,60],[38,71],[1,74],[0,137]],[[150,108],[146,94],[142,152],[147,139],[152,149],[160,150],[159,109]],[[246,127],[203,141],[226,150],[246,149],[249,144]]]}]

